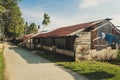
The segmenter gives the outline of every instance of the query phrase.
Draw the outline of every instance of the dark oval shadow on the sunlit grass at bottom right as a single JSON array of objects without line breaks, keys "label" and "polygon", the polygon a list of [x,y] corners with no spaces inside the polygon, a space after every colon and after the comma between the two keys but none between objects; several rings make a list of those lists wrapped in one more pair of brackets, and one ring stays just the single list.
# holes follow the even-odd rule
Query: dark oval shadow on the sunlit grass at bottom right
[{"label": "dark oval shadow on the sunlit grass at bottom right", "polygon": [[109,79],[114,77],[113,74],[104,72],[104,71],[98,71],[98,72],[91,72],[91,73],[83,73],[82,75],[92,79],[92,80],[103,80],[103,79]]}]

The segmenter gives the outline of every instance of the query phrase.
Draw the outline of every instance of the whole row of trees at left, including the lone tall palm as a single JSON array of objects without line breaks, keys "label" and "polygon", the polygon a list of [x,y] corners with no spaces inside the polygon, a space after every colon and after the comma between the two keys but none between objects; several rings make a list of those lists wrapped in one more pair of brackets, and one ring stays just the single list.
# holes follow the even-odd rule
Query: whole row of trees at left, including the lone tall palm
[{"label": "whole row of trees at left, including the lone tall palm", "polygon": [[[18,6],[21,0],[0,0],[0,35],[15,39],[24,34],[37,33],[40,25],[25,22]],[[50,23],[50,17],[44,13],[42,25]]]}]

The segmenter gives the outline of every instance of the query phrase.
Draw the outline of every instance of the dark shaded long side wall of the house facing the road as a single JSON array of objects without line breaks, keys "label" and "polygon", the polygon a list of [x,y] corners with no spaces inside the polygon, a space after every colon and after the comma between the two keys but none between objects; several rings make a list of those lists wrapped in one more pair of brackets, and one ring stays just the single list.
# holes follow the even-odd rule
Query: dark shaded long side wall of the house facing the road
[{"label": "dark shaded long side wall of the house facing the road", "polygon": [[[43,45],[41,42],[34,43],[35,48],[40,45],[42,48],[57,52],[59,54],[74,57],[74,37],[55,37],[55,38],[44,38]],[[47,42],[48,41],[48,42]],[[50,46],[49,45],[50,42]],[[32,48],[32,47],[31,47]]]}]

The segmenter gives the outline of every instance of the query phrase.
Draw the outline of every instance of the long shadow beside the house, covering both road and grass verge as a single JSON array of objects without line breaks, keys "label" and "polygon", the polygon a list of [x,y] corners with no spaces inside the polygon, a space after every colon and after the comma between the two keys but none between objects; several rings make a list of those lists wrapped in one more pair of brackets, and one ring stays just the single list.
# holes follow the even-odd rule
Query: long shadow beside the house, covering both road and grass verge
[{"label": "long shadow beside the house, covering both road and grass verge", "polygon": [[18,55],[20,55],[22,58],[24,58],[24,60],[26,60],[30,64],[74,61],[71,57],[52,53],[43,49],[32,51],[20,48],[15,45],[11,45],[9,49],[14,50]]}]

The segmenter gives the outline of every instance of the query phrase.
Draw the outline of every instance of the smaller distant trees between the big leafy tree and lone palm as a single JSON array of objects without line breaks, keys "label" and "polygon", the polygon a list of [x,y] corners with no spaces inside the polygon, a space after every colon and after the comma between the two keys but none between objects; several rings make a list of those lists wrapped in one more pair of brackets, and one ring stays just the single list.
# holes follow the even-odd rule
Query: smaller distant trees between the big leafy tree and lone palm
[{"label": "smaller distant trees between the big leafy tree and lone palm", "polygon": [[28,25],[28,23],[26,22],[25,34],[37,33],[37,32],[38,32],[38,28],[35,23],[31,23],[30,25]]}]

